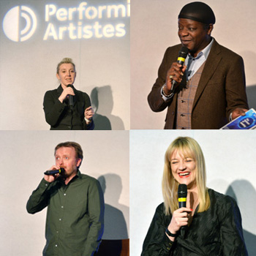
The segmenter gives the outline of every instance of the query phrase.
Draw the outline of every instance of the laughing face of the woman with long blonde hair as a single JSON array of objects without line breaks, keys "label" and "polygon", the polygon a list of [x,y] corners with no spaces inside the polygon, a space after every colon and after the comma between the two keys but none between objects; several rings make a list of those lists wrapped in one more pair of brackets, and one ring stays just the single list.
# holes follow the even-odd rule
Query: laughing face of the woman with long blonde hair
[{"label": "laughing face of the woman with long blonde hair", "polygon": [[176,150],[170,157],[170,167],[178,184],[186,184],[188,189],[196,187],[197,167],[195,159]]}]

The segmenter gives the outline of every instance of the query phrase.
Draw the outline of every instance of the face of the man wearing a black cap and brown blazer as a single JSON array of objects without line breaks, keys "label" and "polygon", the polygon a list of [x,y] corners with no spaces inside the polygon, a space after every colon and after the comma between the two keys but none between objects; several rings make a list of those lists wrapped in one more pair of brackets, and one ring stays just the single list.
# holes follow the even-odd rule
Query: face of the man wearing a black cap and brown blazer
[{"label": "face of the man wearing a black cap and brown blazer", "polygon": [[211,42],[212,29],[212,24],[206,26],[195,20],[178,19],[178,37],[194,57]]}]

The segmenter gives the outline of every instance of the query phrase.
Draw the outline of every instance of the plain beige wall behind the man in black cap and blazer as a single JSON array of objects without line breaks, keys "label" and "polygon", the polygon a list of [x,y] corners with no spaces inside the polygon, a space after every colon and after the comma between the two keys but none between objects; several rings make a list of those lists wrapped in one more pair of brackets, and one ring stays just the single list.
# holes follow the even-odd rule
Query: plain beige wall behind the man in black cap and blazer
[{"label": "plain beige wall behind the man in black cap and blazer", "polygon": [[[131,15],[131,129],[163,129],[166,110],[154,113],[147,96],[167,47],[180,43],[178,13],[188,0],[133,0]],[[250,108],[256,108],[255,0],[205,0],[216,16],[212,36],[241,55]]]}]

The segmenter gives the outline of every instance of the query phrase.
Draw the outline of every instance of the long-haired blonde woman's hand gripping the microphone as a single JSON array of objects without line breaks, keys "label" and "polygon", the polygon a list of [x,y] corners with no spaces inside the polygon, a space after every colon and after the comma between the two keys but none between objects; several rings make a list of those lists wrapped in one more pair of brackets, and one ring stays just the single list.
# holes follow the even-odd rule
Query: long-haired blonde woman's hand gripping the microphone
[{"label": "long-haired blonde woman's hand gripping the microphone", "polygon": [[192,209],[185,207],[178,208],[178,210],[174,211],[173,217],[168,225],[170,233],[175,235],[182,226],[187,226],[189,222],[189,214],[191,214],[192,211]]}]

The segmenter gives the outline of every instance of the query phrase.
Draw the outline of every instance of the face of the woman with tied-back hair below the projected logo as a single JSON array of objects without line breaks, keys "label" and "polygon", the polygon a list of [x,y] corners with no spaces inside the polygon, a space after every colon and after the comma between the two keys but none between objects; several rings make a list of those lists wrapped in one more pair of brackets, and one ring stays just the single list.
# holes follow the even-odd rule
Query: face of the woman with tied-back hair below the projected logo
[{"label": "face of the woman with tied-back hair below the projected logo", "polygon": [[67,87],[69,84],[75,82],[75,67],[71,63],[61,64],[59,67],[59,73],[56,74],[57,78],[61,80],[62,88]]}]

